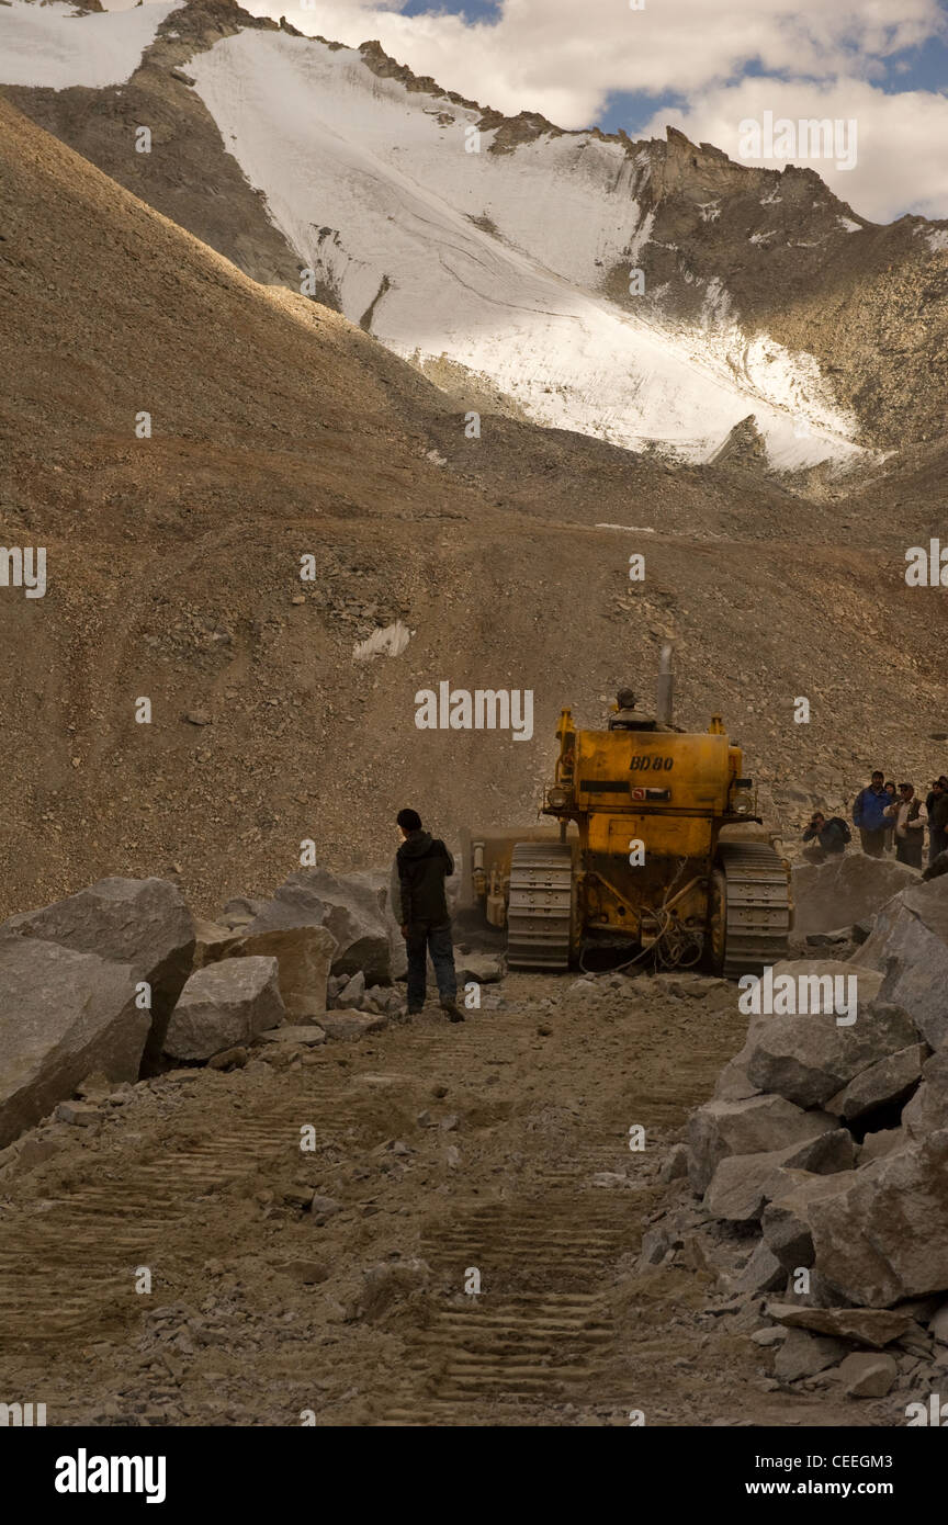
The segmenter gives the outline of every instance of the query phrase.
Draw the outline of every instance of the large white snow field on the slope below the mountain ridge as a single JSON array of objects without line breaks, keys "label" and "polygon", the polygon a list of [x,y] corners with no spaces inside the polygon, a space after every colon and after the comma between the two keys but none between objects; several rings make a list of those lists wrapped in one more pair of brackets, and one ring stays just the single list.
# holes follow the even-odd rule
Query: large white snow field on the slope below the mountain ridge
[{"label": "large white snow field on the slope below the mountain ridge", "polygon": [[579,134],[488,154],[485,133],[466,152],[476,111],[283,34],[224,38],[189,72],[300,264],[398,354],[447,357],[536,422],[633,448],[707,459],[753,412],[780,467],[857,453],[815,361],[748,343],[721,290],[692,329],[596,293],[648,236],[643,171],[620,145]]}]

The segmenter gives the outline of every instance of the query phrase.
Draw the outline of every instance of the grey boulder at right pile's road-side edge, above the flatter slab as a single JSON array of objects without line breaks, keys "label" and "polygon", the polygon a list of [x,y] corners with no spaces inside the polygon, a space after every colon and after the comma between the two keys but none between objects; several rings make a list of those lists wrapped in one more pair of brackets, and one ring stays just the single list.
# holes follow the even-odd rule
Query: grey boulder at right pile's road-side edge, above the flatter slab
[{"label": "grey boulder at right pile's road-side edge, above the flatter slab", "polygon": [[704,1193],[729,1154],[789,1148],[837,1127],[837,1119],[825,1112],[803,1112],[782,1096],[707,1101],[687,1124],[690,1183],[695,1191]]}]

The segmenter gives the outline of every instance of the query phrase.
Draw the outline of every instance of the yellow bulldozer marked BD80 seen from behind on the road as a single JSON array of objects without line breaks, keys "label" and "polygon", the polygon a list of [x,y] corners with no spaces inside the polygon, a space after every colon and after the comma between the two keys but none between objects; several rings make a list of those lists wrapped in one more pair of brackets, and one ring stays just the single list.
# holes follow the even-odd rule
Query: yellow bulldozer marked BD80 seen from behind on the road
[{"label": "yellow bulldozer marked BD80 seen from behind on the road", "polygon": [[791,881],[741,747],[719,715],[707,732],[672,724],[668,645],[655,715],[619,700],[601,730],[561,712],[549,824],[463,833],[459,909],[506,929],[514,968],[585,967],[604,949],[623,968],[759,974],[786,953]]}]

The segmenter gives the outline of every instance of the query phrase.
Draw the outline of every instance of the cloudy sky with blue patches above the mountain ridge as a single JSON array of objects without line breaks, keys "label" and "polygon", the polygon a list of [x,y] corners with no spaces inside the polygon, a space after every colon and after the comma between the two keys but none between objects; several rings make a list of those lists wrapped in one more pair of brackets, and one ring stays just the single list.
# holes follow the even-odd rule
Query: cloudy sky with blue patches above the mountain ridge
[{"label": "cloudy sky with blue patches above the mountain ridge", "polygon": [[948,9],[937,0],[242,3],[309,35],[378,38],[447,90],[567,128],[663,137],[671,122],[738,157],[741,120],[767,111],[855,120],[854,169],[812,162],[837,195],[876,221],[948,217]]}]

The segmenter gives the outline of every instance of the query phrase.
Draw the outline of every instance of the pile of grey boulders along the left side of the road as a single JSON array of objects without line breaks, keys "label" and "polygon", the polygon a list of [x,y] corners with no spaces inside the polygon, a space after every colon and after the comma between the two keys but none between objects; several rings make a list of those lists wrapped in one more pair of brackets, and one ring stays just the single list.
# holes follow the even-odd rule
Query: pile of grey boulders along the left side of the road
[{"label": "pile of grey boulders along the left side of the road", "polygon": [[[387,894],[384,872],[302,869],[207,921],[168,880],[104,878],[11,917],[0,1150],[58,1106],[84,1121],[88,1106],[72,1098],[90,1075],[108,1092],[180,1064],[242,1068],[255,1048],[282,1068],[402,1019],[405,949]],[[497,956],[459,950],[462,988],[503,973]]]}]

